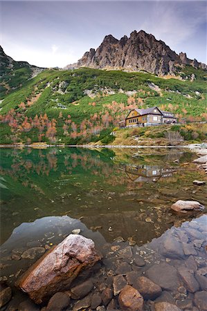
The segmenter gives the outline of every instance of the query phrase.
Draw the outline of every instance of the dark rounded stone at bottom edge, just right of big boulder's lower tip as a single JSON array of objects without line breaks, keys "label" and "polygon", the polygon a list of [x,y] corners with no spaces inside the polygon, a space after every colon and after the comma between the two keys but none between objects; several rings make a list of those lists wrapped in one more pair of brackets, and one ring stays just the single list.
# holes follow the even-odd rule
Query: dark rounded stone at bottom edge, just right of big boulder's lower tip
[{"label": "dark rounded stone at bottom edge, just right of big boulder's lower tip", "polygon": [[[69,306],[71,299],[69,295],[64,292],[56,292],[49,300],[48,305],[46,306],[46,311],[61,311],[65,310]],[[31,309],[32,310],[32,309]]]}]

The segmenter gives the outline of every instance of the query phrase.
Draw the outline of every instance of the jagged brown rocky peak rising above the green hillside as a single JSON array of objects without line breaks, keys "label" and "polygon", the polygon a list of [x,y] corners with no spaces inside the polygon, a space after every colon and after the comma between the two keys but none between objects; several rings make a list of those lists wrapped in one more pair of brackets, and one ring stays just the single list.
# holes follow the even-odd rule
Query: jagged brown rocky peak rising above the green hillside
[{"label": "jagged brown rocky peak rising above the green hillside", "polygon": [[112,68],[139,71],[145,70],[157,75],[174,74],[176,66],[192,65],[195,68],[206,69],[206,64],[188,59],[186,53],[177,55],[161,40],[141,30],[134,30],[130,37],[124,36],[120,40],[107,35],[102,44],[95,50],[91,48],[84,53],[78,63],[66,68]]}]

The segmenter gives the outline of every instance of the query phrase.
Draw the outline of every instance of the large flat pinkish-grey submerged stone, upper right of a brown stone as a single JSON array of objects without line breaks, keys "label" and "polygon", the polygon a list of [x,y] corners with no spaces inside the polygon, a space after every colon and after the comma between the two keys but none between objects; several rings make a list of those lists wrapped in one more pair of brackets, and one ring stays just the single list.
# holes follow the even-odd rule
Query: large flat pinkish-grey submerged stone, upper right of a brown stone
[{"label": "large flat pinkish-grey submerged stone, upper right of a brown stone", "polygon": [[172,265],[168,265],[168,263],[153,265],[145,275],[151,281],[160,285],[163,290],[177,290],[180,285],[177,269]]}]

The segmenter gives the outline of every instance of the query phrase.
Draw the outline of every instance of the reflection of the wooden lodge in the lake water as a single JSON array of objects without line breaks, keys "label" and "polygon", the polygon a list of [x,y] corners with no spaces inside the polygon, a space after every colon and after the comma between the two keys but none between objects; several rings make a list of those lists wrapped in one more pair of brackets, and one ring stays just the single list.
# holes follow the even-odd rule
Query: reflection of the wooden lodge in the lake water
[{"label": "reflection of the wooden lodge in the lake water", "polygon": [[160,167],[156,165],[127,164],[125,172],[134,182],[156,182],[160,178],[168,178],[177,171],[176,167]]}]

